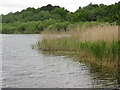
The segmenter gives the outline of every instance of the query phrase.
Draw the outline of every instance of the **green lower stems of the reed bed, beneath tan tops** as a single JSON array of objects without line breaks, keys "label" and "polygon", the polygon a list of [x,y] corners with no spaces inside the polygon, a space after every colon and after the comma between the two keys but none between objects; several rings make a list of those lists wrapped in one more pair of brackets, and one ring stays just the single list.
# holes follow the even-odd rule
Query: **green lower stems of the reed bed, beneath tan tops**
[{"label": "green lower stems of the reed bed, beneath tan tops", "polygon": [[120,53],[120,41],[81,42],[67,37],[53,40],[44,39],[39,41],[38,46],[42,50],[49,51],[75,51],[80,53],[84,51],[100,60],[103,60],[104,58],[116,60]]}]

